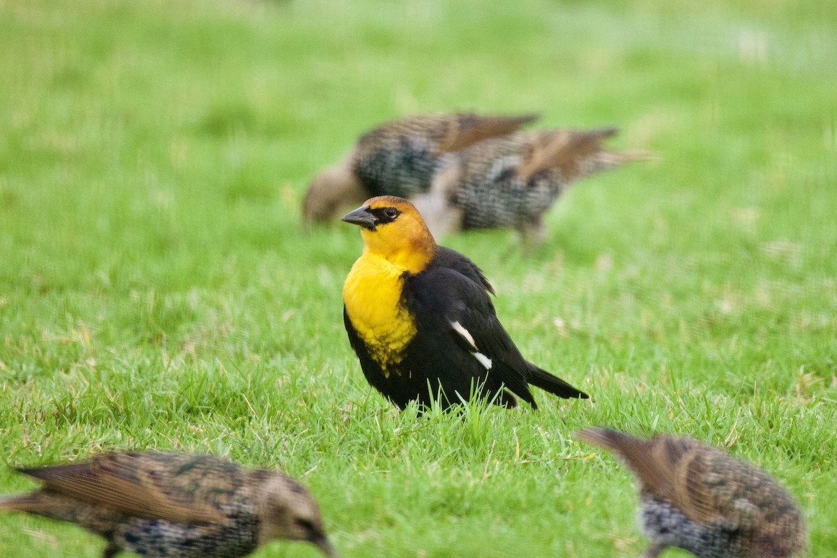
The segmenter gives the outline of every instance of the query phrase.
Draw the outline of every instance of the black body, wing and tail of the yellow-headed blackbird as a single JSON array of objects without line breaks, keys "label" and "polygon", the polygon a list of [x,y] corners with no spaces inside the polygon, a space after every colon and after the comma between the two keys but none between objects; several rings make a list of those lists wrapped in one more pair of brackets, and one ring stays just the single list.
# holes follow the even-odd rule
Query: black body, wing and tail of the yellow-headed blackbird
[{"label": "black body, wing and tail of the yellow-headed blackbird", "polygon": [[[561,397],[586,397],[521,356],[497,319],[490,284],[464,255],[438,247],[422,271],[404,273],[401,281],[399,304],[413,320],[414,335],[397,362],[374,358],[344,311],[367,381],[398,407],[411,401],[429,406],[433,400],[449,407],[472,394],[496,396],[506,407],[516,406],[517,396],[536,407],[528,387],[533,381]],[[538,378],[544,381],[537,383]]]}]

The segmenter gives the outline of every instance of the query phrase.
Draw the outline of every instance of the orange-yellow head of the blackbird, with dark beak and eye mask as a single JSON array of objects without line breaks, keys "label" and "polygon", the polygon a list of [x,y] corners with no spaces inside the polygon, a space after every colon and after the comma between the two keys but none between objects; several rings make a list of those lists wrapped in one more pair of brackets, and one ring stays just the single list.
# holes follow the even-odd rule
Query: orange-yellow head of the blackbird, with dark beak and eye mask
[{"label": "orange-yellow head of the blackbird, with dark beak and eye mask", "polygon": [[341,221],[358,225],[372,253],[417,274],[436,253],[436,241],[413,204],[395,196],[372,197]]}]

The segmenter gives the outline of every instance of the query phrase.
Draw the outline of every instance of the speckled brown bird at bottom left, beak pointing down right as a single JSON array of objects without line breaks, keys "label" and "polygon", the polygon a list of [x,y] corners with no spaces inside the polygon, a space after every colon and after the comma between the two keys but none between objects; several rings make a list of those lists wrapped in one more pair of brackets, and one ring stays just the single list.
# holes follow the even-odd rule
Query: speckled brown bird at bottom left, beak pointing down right
[{"label": "speckled brown bird at bottom left, beak pointing down right", "polygon": [[192,453],[105,453],[87,463],[20,468],[44,482],[0,509],[69,521],[148,558],[237,558],[274,539],[334,551],[308,491],[275,471]]}]

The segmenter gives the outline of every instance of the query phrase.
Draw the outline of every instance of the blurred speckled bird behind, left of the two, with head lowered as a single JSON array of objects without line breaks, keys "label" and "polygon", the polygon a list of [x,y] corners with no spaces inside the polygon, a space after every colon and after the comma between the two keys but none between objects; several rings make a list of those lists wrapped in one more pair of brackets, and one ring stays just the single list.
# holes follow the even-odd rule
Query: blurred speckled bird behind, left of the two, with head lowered
[{"label": "blurred speckled bird behind, left of the two, with head lowered", "polygon": [[302,215],[328,222],[342,207],[367,197],[411,198],[430,189],[442,156],[488,138],[505,136],[537,115],[416,115],[379,125],[357,140],[348,156],[321,171],[308,187]]}]

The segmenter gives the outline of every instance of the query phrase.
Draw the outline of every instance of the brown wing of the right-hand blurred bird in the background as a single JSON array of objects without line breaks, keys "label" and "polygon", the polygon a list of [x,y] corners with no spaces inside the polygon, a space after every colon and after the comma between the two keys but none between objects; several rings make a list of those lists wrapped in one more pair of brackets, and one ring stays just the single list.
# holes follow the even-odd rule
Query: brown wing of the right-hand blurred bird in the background
[{"label": "brown wing of the right-hand blurred bird in the background", "polygon": [[613,136],[618,128],[572,131],[554,130],[532,136],[531,151],[524,157],[517,176],[528,181],[537,171],[557,168],[567,181],[581,174],[581,166],[602,149],[602,140]]}]

